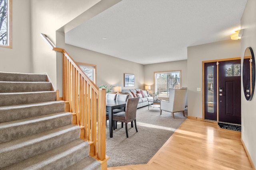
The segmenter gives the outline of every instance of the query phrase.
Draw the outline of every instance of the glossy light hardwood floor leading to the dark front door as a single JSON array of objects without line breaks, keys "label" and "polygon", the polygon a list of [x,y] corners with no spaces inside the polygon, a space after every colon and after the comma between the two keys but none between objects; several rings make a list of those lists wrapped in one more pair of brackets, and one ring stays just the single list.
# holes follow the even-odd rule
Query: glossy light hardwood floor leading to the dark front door
[{"label": "glossy light hardwood floor leading to the dark front door", "polygon": [[[124,160],[125,161],[125,160]],[[216,123],[187,119],[144,165],[108,170],[253,170],[241,132]]]}]

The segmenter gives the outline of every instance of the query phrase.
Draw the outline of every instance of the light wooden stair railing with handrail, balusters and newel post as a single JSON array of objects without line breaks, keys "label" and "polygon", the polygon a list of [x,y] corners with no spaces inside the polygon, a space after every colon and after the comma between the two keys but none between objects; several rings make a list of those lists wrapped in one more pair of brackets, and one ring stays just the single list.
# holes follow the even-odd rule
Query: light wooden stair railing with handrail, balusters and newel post
[{"label": "light wooden stair railing with handrail, balusters and newel post", "polygon": [[[45,39],[47,36],[42,34],[42,37]],[[50,47],[62,53],[63,100],[68,101],[69,111],[76,115],[75,122],[81,128],[80,138],[90,143],[90,156],[104,161],[106,90],[99,89],[64,49],[56,48],[53,44]]]}]

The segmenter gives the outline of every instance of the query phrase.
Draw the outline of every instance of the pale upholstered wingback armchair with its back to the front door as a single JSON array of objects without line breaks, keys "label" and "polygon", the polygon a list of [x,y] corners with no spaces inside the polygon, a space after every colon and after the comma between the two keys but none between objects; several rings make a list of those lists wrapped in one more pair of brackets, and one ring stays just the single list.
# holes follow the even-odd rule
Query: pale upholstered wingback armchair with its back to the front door
[{"label": "pale upholstered wingback armchair with its back to the front door", "polygon": [[160,102],[160,115],[163,110],[171,112],[173,118],[174,113],[180,111],[182,111],[183,116],[185,116],[186,96],[187,89],[169,89],[169,102]]}]

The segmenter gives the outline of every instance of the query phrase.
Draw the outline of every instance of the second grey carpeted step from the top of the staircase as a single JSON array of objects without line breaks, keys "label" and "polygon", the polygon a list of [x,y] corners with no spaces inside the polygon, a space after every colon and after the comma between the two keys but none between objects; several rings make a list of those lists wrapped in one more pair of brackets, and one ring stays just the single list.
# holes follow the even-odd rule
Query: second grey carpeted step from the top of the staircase
[{"label": "second grey carpeted step from the top of the staircase", "polygon": [[50,91],[50,82],[0,82],[0,93]]}]

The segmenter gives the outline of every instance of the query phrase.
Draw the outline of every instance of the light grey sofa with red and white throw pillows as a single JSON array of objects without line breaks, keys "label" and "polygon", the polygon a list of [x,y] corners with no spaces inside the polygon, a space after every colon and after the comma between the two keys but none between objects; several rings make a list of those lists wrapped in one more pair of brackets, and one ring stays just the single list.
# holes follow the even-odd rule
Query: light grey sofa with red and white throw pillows
[{"label": "light grey sofa with red and white throw pillows", "polygon": [[137,108],[148,106],[148,100],[153,100],[153,97],[149,96],[146,90],[141,90],[139,88],[122,90],[122,94],[128,94],[129,98],[140,97]]}]

